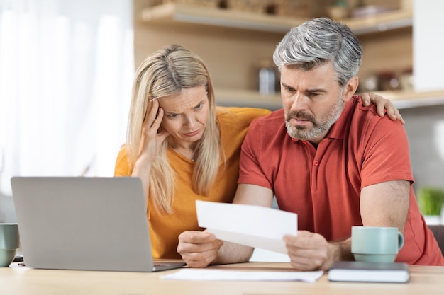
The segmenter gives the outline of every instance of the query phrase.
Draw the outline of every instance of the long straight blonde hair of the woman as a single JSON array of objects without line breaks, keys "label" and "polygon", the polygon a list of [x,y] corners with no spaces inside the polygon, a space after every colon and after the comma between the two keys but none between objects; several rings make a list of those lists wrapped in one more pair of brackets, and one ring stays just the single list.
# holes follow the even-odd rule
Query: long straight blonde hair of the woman
[{"label": "long straight blonde hair of the woman", "polygon": [[[216,122],[216,101],[213,84],[206,65],[200,57],[180,45],[170,45],[151,54],[140,64],[133,83],[128,118],[126,149],[128,165],[132,169],[138,157],[142,125],[145,115],[152,108],[153,99],[178,95],[183,88],[205,86],[209,99],[209,117],[204,134],[196,145],[196,163],[192,175],[194,190],[199,195],[208,195],[218,172],[220,131]],[[159,154],[152,162],[150,192],[155,209],[162,214],[172,213],[174,198],[174,170],[167,158],[170,146],[165,140]]]}]

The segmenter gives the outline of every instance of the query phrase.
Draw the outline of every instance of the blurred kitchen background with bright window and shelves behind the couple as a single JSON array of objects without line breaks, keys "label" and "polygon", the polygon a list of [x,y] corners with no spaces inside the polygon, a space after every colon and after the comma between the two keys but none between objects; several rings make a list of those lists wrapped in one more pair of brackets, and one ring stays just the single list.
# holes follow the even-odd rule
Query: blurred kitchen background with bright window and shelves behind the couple
[{"label": "blurred kitchen background with bright window and shelves behind the couple", "polygon": [[0,0],[0,221],[13,175],[111,176],[135,68],[178,43],[209,66],[219,105],[281,108],[272,52],[328,16],[364,50],[360,92],[406,120],[416,191],[444,187],[444,1]]}]

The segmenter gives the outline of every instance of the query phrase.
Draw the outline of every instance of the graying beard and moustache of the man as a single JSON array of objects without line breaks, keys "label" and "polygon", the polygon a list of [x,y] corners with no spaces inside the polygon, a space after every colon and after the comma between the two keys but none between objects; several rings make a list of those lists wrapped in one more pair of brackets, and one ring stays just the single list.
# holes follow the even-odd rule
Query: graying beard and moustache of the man
[{"label": "graying beard and moustache of the man", "polygon": [[[299,140],[311,141],[320,137],[323,132],[326,132],[326,130],[330,129],[333,124],[335,124],[335,122],[339,119],[343,108],[343,98],[341,94],[341,96],[339,96],[336,100],[335,105],[333,105],[333,108],[330,110],[330,112],[328,112],[325,116],[321,118],[321,121],[317,122],[314,116],[308,112],[286,112],[284,114],[285,127],[287,127],[287,132],[290,137]],[[313,126],[293,126],[290,123],[290,119],[292,118],[296,118],[299,120],[308,120],[313,124]]]}]

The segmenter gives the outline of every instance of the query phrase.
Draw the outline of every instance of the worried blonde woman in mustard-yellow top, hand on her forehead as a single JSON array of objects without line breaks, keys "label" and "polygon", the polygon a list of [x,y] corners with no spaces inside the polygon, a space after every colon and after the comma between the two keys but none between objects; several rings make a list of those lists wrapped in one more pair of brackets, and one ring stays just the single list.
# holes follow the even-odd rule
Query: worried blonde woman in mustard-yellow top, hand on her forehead
[{"label": "worried blonde woman in mustard-yellow top, hand on her forehead", "polygon": [[[373,99],[382,115],[387,103],[391,117],[402,120],[389,100]],[[139,66],[115,175],[143,183],[154,258],[180,258],[179,234],[200,229],[196,199],[232,202],[240,145],[250,122],[269,112],[216,108],[206,65],[182,46],[165,47]]]}]

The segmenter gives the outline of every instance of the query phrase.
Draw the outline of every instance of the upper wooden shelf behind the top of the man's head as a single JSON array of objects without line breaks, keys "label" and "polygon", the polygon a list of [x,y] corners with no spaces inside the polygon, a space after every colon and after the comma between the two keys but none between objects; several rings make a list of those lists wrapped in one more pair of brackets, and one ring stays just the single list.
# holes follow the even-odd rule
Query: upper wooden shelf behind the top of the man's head
[{"label": "upper wooden shelf behind the top of the man's head", "polygon": [[[394,11],[376,16],[344,20],[356,35],[408,28],[412,25],[412,11]],[[145,8],[142,21],[147,23],[189,23],[225,28],[287,33],[290,28],[307,21],[306,18],[270,16],[260,13],[206,8],[185,4],[162,4]]]}]

